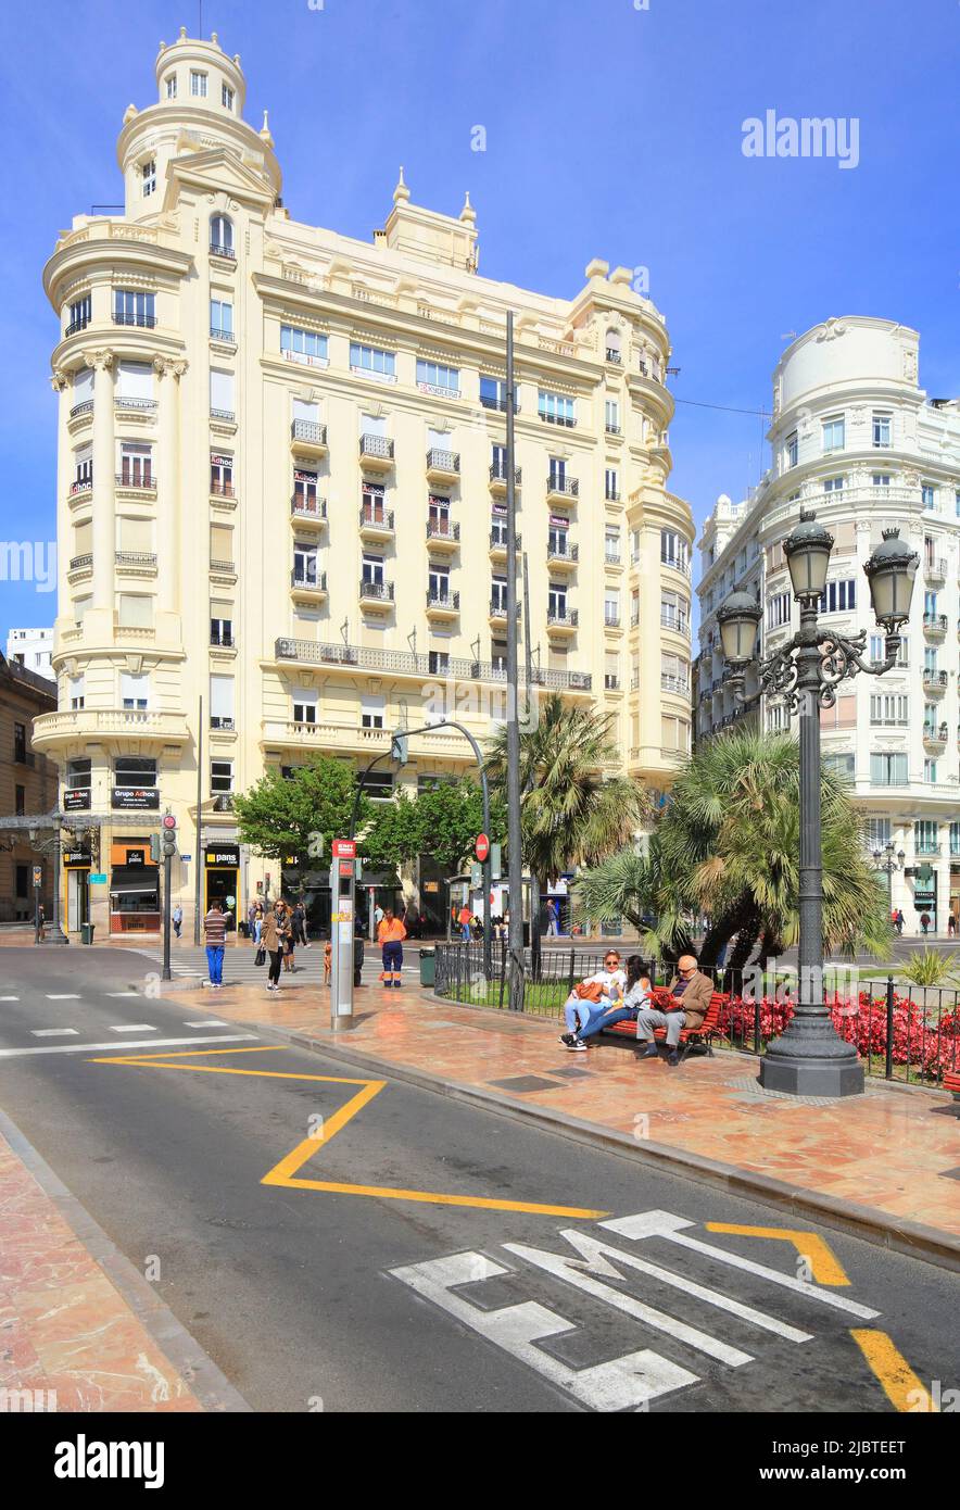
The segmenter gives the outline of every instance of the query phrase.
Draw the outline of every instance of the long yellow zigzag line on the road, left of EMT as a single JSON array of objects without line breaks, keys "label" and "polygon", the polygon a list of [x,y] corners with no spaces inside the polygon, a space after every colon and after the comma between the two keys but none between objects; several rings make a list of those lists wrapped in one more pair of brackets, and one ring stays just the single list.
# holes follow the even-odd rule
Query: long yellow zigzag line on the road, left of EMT
[{"label": "long yellow zigzag line on the road, left of EMT", "polygon": [[308,1160],[329,1143],[343,1128],[350,1122],[352,1117],[361,1111],[367,1102],[373,1101],[374,1096],[385,1089],[388,1081],[385,1080],[356,1080],[347,1075],[308,1075],[308,1074],[290,1074],[279,1069],[232,1069],[223,1065],[171,1065],[168,1060],[184,1060],[207,1057],[210,1054],[276,1054],[284,1045],[267,1045],[258,1048],[223,1048],[223,1049],[178,1049],[175,1054],[131,1054],[131,1055],[115,1055],[109,1059],[91,1060],[94,1065],[127,1065],[134,1069],[190,1069],[198,1074],[205,1075],[251,1075],[263,1080],[315,1080],[334,1086],[361,1086],[350,1099],[340,1107],[331,1117],[323,1119],[323,1128],[314,1136],[306,1137],[285,1158],[281,1158],[279,1164],[275,1164],[269,1173],[261,1179],[261,1185],[282,1185],[287,1190],[325,1190],[338,1196],[374,1196],[380,1200],[418,1200],[427,1205],[438,1206],[469,1206],[478,1211],[527,1211],[534,1216],[548,1217],[574,1217],[583,1220],[596,1220],[598,1217],[610,1216],[608,1211],[593,1211],[586,1206],[554,1206],[542,1205],[533,1200],[495,1200],[489,1196],[447,1196],[435,1190],[395,1190],[389,1185],[355,1185],[341,1184],[338,1181],[326,1179],[305,1179],[296,1178],[297,1170],[306,1164]]}]

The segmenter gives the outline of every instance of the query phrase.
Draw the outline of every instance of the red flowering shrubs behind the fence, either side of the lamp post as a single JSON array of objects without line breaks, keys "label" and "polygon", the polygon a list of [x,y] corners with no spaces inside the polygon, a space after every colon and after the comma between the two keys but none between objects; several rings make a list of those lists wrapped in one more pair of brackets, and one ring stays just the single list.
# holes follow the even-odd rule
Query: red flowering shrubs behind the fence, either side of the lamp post
[{"label": "red flowering shrubs behind the fence, either side of the lamp post", "polygon": [[[871,1059],[886,1055],[886,997],[871,997],[862,991],[859,997],[827,998],[830,1016],[838,1034],[847,1043]],[[720,1031],[738,1046],[753,1043],[756,1013],[759,1009],[761,1043],[779,1037],[792,1016],[792,1003],[786,998],[762,997],[753,1003],[743,997],[726,997],[720,1009]],[[894,995],[894,1065],[909,1065],[921,1077],[942,1080],[948,1069],[960,1069],[960,1007],[939,1016],[912,997]]]}]

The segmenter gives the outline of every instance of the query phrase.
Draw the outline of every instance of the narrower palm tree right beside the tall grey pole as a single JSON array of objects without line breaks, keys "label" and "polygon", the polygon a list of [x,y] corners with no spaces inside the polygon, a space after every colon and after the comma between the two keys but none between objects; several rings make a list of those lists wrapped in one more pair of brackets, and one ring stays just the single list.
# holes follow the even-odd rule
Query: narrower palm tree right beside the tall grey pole
[{"label": "narrower palm tree right beside the tall grey pole", "polygon": [[[572,865],[599,864],[651,817],[643,787],[605,775],[620,761],[611,723],[611,714],[598,717],[552,693],[540,704],[536,726],[521,732],[524,864],[540,888]],[[506,728],[488,746],[486,770],[494,788],[506,793]]]}]

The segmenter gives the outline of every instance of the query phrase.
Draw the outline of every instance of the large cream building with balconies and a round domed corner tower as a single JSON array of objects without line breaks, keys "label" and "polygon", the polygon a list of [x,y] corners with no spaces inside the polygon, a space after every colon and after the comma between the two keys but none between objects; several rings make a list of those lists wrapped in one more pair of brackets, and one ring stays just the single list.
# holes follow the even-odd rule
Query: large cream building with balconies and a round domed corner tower
[{"label": "large cream building with balconies and a round domed corner tower", "polygon": [[[77,216],[44,273],[62,565],[35,743],[103,823],[94,918],[155,921],[168,805],[184,914],[198,864],[245,903],[279,879],[231,814],[266,767],[503,716],[509,310],[534,680],[610,711],[625,769],[669,787],[693,521],[667,491],[669,337],[631,272],[593,261],[571,300],[485,279],[469,198],[421,208],[403,171],[371,242],[299,223],[238,57],[181,33],[155,72],[118,140],[125,213]],[[471,764],[456,731],[412,737],[382,796]]]}]

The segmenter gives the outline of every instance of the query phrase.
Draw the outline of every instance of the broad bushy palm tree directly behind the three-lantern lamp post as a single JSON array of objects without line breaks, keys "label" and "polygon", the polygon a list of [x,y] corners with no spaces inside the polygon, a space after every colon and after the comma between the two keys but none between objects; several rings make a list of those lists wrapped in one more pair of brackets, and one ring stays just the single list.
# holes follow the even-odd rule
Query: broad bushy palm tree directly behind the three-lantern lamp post
[{"label": "broad bushy palm tree directly behind the three-lantern lamp post", "polygon": [[[655,912],[648,944],[666,956],[690,948],[691,914],[709,914],[700,950],[714,965],[734,942],[728,965],[758,960],[797,942],[800,853],[800,752],[788,735],[746,726],[709,740],[678,778],[651,844],[640,908]],[[862,824],[845,782],[821,770],[823,936],[830,951],[857,945],[886,954],[886,895],[866,864]],[[614,862],[578,883],[590,908],[622,888]]]}]

